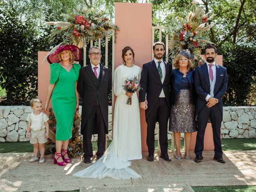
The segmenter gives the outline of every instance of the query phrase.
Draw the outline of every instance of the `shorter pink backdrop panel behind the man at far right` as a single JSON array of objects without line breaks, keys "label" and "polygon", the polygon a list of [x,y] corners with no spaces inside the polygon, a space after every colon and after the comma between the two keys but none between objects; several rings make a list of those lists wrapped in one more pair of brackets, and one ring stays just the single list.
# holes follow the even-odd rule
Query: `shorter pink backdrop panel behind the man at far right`
[{"label": "shorter pink backdrop panel behind the man at far right", "polygon": [[[204,55],[200,55],[202,58],[204,58]],[[216,63],[218,65],[222,66],[223,63],[223,56],[218,55],[215,59]],[[196,146],[196,133],[192,133],[192,138],[190,142],[190,150],[194,150]],[[212,136],[212,124],[208,123],[206,126],[205,134],[204,134],[204,150],[214,150],[214,143],[213,143],[213,136]]]}]

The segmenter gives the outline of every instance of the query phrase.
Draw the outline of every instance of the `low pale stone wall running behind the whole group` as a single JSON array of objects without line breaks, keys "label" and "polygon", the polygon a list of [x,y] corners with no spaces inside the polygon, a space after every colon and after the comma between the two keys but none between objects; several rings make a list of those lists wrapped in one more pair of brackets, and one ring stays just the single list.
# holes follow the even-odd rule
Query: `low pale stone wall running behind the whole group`
[{"label": "low pale stone wall running behind the whole group", "polygon": [[[30,106],[0,107],[0,142],[27,141],[26,118],[32,112]],[[79,113],[82,109],[80,106]],[[222,122],[222,138],[256,138],[256,107],[224,107]],[[112,106],[108,108],[108,140],[112,140]],[[158,140],[159,125],[156,123],[155,140]],[[183,138],[183,134],[181,135]],[[168,131],[168,140],[172,138]],[[98,136],[92,135],[92,141]]]}]

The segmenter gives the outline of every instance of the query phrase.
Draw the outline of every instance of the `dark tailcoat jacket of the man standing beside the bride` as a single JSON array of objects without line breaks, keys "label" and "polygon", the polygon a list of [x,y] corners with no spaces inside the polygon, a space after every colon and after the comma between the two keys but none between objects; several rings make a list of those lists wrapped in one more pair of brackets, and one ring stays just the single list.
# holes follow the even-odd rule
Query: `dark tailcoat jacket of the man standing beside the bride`
[{"label": "dark tailcoat jacket of the man standing beside the bride", "polygon": [[139,93],[139,102],[144,102],[147,94],[148,109],[145,112],[146,119],[152,112],[152,109],[154,108],[162,89],[164,90],[166,102],[170,110],[170,73],[172,69],[169,63],[164,62],[164,64],[166,74],[163,83],[161,82],[154,60],[143,64],[142,66],[140,79],[142,89]]}]

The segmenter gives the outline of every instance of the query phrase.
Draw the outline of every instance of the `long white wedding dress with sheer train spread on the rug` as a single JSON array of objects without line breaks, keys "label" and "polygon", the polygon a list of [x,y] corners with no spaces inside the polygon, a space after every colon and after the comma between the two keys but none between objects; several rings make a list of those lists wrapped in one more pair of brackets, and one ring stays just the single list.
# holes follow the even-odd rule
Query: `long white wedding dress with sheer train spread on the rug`
[{"label": "long white wedding dress with sheer train spread on the rug", "polygon": [[122,87],[124,81],[137,76],[140,80],[140,67],[134,65],[127,67],[120,65],[114,72],[114,94],[116,103],[114,106],[113,139],[104,155],[91,166],[81,170],[74,176],[84,178],[114,179],[141,178],[128,166],[128,160],[141,159],[141,136],[140,136],[140,108],[138,96],[132,95],[132,105],[126,104],[128,96]]}]

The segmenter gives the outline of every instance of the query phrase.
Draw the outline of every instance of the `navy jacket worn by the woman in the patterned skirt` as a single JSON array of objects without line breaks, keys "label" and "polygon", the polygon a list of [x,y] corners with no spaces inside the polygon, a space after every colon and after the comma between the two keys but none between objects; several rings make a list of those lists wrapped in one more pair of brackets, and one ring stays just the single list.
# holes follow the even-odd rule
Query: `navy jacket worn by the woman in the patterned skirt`
[{"label": "navy jacket worn by the woman in the patterned skirt", "polygon": [[[171,72],[170,77],[170,101],[171,105],[174,105],[176,102],[176,98],[180,91],[181,81],[182,81],[183,73],[179,71],[179,69],[174,69]],[[196,90],[194,86],[194,70],[189,70],[187,72],[187,78],[190,86],[191,96],[192,96],[192,104],[196,105]]]}]

